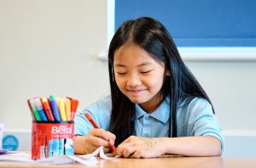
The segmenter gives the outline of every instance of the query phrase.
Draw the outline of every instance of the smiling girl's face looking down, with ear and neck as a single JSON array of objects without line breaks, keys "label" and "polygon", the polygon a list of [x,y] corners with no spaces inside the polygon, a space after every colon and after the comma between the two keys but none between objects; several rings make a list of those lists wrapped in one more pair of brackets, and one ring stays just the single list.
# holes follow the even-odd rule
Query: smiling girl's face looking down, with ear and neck
[{"label": "smiling girl's face looking down, with ear and neck", "polygon": [[119,48],[113,55],[113,70],[119,90],[131,102],[139,104],[148,113],[160,105],[163,99],[160,89],[170,72],[143,48],[135,44]]}]

